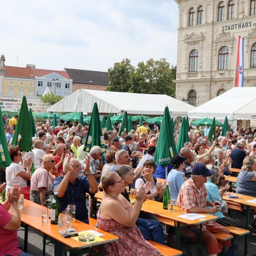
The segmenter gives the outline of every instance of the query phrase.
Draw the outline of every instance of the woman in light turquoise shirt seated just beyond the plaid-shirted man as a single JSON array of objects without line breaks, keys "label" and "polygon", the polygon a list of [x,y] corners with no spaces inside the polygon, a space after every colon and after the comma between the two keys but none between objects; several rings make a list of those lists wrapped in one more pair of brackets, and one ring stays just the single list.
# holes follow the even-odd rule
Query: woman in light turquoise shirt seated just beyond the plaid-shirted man
[{"label": "woman in light turquoise shirt seated just beyond the plaid-shirted man", "polygon": [[[221,204],[219,208],[221,208],[223,193],[229,189],[229,186],[225,186],[223,189],[219,190],[217,184],[219,183],[221,177],[221,170],[217,166],[213,166],[211,164],[207,165],[207,168],[213,171],[212,176],[207,177],[207,183],[205,184],[207,189],[207,201],[218,201]],[[206,208],[211,207],[207,206]],[[216,212],[215,216],[218,217],[216,222],[222,226],[239,227],[239,224],[236,222],[236,220],[224,216],[222,209],[221,211]]]}]

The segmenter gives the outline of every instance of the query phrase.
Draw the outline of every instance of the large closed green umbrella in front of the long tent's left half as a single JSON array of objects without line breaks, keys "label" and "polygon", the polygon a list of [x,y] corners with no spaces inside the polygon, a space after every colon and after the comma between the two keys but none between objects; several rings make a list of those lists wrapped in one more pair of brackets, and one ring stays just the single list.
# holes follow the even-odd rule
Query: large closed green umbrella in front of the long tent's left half
[{"label": "large closed green umbrella in front of the long tent's left half", "polygon": [[90,124],[84,141],[84,151],[90,152],[93,146],[99,146],[102,148],[102,152],[105,152],[105,141],[102,136],[101,121],[99,119],[99,110],[96,102],[93,105],[93,112],[90,117]]}]

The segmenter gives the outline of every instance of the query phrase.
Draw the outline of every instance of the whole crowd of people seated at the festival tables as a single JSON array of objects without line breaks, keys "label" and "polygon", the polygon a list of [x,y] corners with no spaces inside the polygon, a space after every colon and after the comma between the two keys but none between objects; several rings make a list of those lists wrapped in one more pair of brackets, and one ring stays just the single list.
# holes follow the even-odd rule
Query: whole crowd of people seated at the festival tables
[{"label": "whole crowd of people seated at the festival tables", "polygon": [[[9,122],[6,126],[9,146],[15,125]],[[148,123],[143,122],[142,126],[134,126],[128,133],[122,132],[120,137],[117,135],[118,127],[112,131],[103,129],[108,138],[105,140],[106,153],[96,145],[90,152],[84,151],[87,126],[52,127],[42,122],[35,125],[38,136],[32,138],[30,157],[18,148],[10,147],[9,150],[12,164],[5,170],[6,183],[0,186],[0,190],[6,187],[8,195],[7,203],[0,205],[0,214],[6,216],[0,225],[1,238],[3,234],[10,233],[6,231],[10,221],[6,212],[15,212],[15,196],[20,193],[19,189],[28,188],[27,181],[30,180],[31,201],[45,206],[53,193],[58,192],[60,212],[68,204],[75,204],[76,219],[87,224],[86,193],[94,196],[98,190],[105,191],[97,214],[98,227],[119,236],[118,242],[106,244],[106,255],[160,255],[146,240],[166,244],[163,228],[156,216],[141,211],[141,207],[147,199],[162,201],[167,184],[171,199],[177,202],[178,207],[185,207],[186,212],[204,212],[218,217],[217,221],[204,224],[202,230],[208,254],[216,256],[221,250],[228,252],[230,240],[219,242],[212,233],[229,233],[225,226],[239,227],[236,220],[228,217],[227,203],[222,199],[224,192],[230,189],[225,176],[230,175],[231,167],[241,169],[236,192],[256,196],[256,134],[250,128],[245,131],[240,128],[237,133],[230,128],[226,137],[221,137],[217,128],[217,140],[210,142],[209,127],[204,130],[190,127],[189,141],[177,156],[172,157],[166,177],[165,170],[154,162],[160,134],[158,125],[149,128]],[[176,125],[175,143],[178,136],[179,125]],[[35,172],[31,176],[32,162]],[[166,182],[157,182],[157,177],[166,179]],[[127,192],[131,187],[137,191],[136,201],[132,203]],[[19,212],[15,214],[19,215]],[[12,229],[16,233],[11,232],[9,236],[17,237],[20,217],[18,219],[19,224],[15,223]],[[251,226],[256,230],[256,219]],[[199,229],[199,226],[194,230],[183,227],[181,233],[192,241],[198,241],[196,230]],[[172,237],[171,233],[173,230],[169,229],[169,237]],[[167,245],[171,244],[172,241],[168,240]],[[0,242],[1,246],[4,255],[10,254],[10,248]],[[22,253],[17,243],[13,246],[14,251]],[[55,244],[55,255],[59,255],[61,246],[60,243]]]}]

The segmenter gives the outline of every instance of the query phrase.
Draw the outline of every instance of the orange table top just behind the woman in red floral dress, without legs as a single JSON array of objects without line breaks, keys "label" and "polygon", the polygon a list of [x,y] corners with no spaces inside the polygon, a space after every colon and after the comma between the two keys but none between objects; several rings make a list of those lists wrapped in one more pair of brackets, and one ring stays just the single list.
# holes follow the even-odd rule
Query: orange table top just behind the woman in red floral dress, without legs
[{"label": "orange table top just behind the woman in red floral dress, without legs", "polygon": [[[104,194],[105,194],[104,192],[98,192],[94,195],[94,197],[99,200],[102,200],[102,198],[104,197]],[[203,217],[201,219],[197,219],[194,221],[190,221],[190,220],[178,217],[179,215],[182,214],[180,207],[174,206],[173,211],[168,212],[168,210],[163,209],[163,203],[156,202],[153,200],[145,201],[143,203],[141,210],[144,212],[152,213],[152,214],[160,216],[160,217],[164,217],[169,220],[178,221],[178,222],[186,224],[186,225],[197,225],[197,224],[205,223],[207,221],[214,221],[217,219],[217,217],[215,217],[213,215],[201,213],[202,215],[206,215],[206,217]]]}]

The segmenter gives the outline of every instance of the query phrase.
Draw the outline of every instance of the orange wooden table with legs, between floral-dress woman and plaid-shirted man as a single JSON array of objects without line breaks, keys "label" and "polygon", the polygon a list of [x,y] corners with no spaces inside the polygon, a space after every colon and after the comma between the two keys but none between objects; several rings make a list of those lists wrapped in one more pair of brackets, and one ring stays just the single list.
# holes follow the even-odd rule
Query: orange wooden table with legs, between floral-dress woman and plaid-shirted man
[{"label": "orange wooden table with legs, between floral-dress woman and plaid-shirted man", "polygon": [[[164,179],[158,179],[158,180],[164,180]],[[98,192],[94,195],[94,198],[96,198],[98,200],[102,200],[103,197],[104,197],[104,192]],[[173,211],[168,212],[168,210],[163,209],[163,203],[156,202],[153,200],[145,201],[143,203],[141,210],[144,212],[154,214],[156,216],[164,217],[166,219],[169,219],[170,221],[175,222],[175,239],[176,239],[175,244],[176,244],[176,249],[178,249],[178,250],[180,248],[180,224],[185,225],[185,226],[200,225],[200,241],[201,241],[202,224],[204,224],[208,221],[214,221],[217,219],[217,217],[215,217],[213,215],[201,213],[202,215],[205,215],[206,217],[197,219],[194,221],[190,221],[190,220],[178,217],[179,215],[182,214],[180,207],[174,206]]]}]

